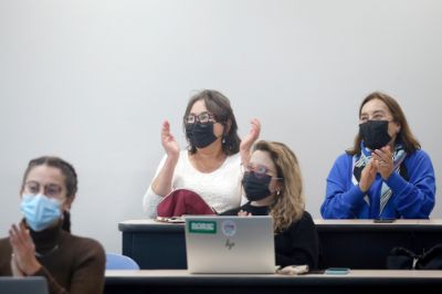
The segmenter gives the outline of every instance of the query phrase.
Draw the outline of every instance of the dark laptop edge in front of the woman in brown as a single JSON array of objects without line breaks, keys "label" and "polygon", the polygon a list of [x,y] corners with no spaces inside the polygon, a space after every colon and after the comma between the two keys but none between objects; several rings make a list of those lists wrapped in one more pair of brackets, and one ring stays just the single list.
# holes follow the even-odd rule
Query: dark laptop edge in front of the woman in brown
[{"label": "dark laptop edge in front of the woman in brown", "polygon": [[43,276],[0,276],[0,294],[48,294],[46,279]]}]

